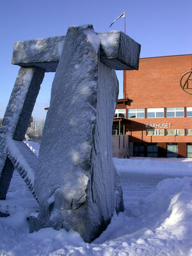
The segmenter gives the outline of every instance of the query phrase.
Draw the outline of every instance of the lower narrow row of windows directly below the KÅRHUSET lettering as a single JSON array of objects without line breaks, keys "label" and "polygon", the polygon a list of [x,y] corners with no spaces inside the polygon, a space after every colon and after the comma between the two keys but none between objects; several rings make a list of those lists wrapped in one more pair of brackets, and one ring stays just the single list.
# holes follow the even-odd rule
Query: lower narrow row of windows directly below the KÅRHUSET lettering
[{"label": "lower narrow row of windows directly below the K\u00c5RHUSET lettering", "polygon": [[[164,136],[164,129],[147,129],[147,136]],[[186,134],[192,136],[192,129],[186,129]],[[184,136],[184,129],[166,129],[166,136]]]}]

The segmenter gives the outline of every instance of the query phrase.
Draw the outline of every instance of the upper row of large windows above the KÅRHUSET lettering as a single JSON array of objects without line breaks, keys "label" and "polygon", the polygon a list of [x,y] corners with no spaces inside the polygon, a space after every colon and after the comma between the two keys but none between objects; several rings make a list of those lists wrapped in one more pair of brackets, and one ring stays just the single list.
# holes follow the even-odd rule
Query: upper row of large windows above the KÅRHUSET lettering
[{"label": "upper row of large windows above the K\u00c5RHUSET lettering", "polygon": [[[115,117],[126,117],[126,109],[116,109]],[[147,108],[147,118],[164,117],[164,108]],[[184,108],[166,108],[166,117],[184,117]],[[192,117],[192,107],[186,108],[186,117]],[[128,109],[128,118],[145,118],[144,108]]]}]

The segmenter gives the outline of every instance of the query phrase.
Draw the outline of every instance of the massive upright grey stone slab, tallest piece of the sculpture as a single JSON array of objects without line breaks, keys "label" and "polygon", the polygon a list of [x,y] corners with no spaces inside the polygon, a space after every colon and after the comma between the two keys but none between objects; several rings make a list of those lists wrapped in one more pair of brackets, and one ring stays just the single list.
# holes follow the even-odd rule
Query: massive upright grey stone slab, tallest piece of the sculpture
[{"label": "massive upright grey stone slab, tallest piece of the sculpture", "polygon": [[31,218],[31,232],[72,228],[90,242],[115,210],[124,210],[111,146],[118,80],[100,61],[99,49],[92,26],[68,29],[40,145],[35,176],[40,214]]}]

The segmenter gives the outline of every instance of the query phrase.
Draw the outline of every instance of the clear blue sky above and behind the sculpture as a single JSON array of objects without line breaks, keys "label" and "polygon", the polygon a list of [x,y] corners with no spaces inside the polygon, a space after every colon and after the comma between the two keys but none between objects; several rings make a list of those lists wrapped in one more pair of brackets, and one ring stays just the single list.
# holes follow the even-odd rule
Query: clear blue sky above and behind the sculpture
[{"label": "clear blue sky above and behind the sculpture", "polygon": [[[93,24],[97,32],[124,31],[124,19],[109,29],[124,10],[126,33],[141,44],[141,58],[192,53],[191,0],[0,0],[0,118],[19,72],[11,64],[14,42],[66,35],[72,25]],[[123,72],[117,76],[122,97]],[[53,77],[45,74],[33,116],[46,115]]]}]

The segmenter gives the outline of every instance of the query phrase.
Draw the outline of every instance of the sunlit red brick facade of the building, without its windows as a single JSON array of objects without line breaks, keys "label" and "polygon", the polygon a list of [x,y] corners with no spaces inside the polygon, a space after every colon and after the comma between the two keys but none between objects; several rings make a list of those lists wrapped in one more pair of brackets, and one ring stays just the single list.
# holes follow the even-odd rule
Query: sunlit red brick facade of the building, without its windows
[{"label": "sunlit red brick facade of the building, without its windows", "polygon": [[[192,143],[192,136],[186,135],[186,129],[192,129],[192,117],[186,117],[186,108],[192,107],[192,94],[189,94],[192,90],[188,89],[192,88],[192,80],[188,80],[188,88],[187,84],[185,86],[189,92],[186,93],[180,86],[180,79],[184,73],[191,71],[192,54],[141,58],[139,70],[124,71],[124,98],[129,98],[130,104],[118,104],[117,108],[127,111],[145,109],[145,118],[129,118],[126,134],[129,134],[130,142],[157,143],[160,156],[166,156],[162,150],[166,151],[167,143],[175,143],[178,156],[187,156],[187,145]],[[187,78],[188,75],[182,84]],[[164,118],[147,118],[147,108],[164,108]],[[166,108],[184,108],[184,117],[168,118]],[[166,129],[164,136],[147,136],[146,124],[150,123],[156,124],[154,129],[184,129],[184,136],[167,136]]]}]

